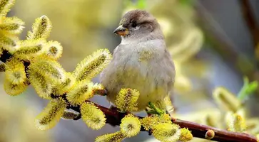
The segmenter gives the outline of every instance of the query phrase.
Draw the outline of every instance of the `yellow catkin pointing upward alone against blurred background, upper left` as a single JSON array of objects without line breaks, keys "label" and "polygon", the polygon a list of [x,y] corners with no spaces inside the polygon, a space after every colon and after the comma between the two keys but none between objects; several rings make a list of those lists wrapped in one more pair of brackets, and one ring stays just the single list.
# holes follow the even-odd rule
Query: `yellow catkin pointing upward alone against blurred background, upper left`
[{"label": "yellow catkin pointing upward alone against blurred background, upper left", "polygon": [[32,31],[28,32],[27,39],[48,38],[51,33],[52,24],[47,16],[36,18]]}]

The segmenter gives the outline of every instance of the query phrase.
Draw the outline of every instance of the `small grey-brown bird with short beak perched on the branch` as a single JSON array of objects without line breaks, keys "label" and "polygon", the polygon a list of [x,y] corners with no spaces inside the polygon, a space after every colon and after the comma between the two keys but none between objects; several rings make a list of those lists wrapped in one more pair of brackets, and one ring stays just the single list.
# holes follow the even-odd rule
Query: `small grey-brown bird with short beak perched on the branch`
[{"label": "small grey-brown bird with short beak perched on the branch", "polygon": [[145,10],[128,11],[113,33],[121,36],[121,43],[100,75],[108,101],[114,104],[122,88],[136,89],[137,108],[143,111],[150,102],[170,97],[176,70],[156,18]]}]

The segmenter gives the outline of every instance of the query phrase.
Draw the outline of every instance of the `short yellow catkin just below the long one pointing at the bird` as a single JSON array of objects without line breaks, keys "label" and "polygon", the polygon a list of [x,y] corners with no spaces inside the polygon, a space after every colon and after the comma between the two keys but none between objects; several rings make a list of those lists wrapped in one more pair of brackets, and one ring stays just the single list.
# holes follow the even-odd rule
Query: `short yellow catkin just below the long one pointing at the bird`
[{"label": "short yellow catkin just below the long one pointing at the bird", "polygon": [[73,89],[66,94],[66,99],[71,105],[81,104],[87,99],[91,99],[93,97],[92,92],[92,82],[79,82],[73,87]]}]

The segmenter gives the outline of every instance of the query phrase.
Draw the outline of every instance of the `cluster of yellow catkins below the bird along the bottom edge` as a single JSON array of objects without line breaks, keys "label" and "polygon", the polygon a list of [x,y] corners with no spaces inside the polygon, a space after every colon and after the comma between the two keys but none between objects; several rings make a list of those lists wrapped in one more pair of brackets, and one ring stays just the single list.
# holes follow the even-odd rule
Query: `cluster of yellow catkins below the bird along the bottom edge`
[{"label": "cluster of yellow catkins below the bird along the bottom edge", "polygon": [[193,138],[191,131],[186,128],[181,129],[177,124],[173,124],[168,114],[154,114],[142,119],[128,114],[121,120],[120,131],[98,136],[96,142],[121,142],[123,138],[130,138],[140,133],[141,126],[145,131],[150,131],[159,141],[191,141]]}]

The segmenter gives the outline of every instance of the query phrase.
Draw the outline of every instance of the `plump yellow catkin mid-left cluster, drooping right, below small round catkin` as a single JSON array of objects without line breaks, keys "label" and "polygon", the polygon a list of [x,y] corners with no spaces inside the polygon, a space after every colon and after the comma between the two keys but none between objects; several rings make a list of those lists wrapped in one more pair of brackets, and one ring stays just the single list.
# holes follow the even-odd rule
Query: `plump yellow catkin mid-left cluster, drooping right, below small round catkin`
[{"label": "plump yellow catkin mid-left cluster, drooping right, below small round catkin", "polygon": [[60,83],[66,80],[66,72],[59,62],[51,60],[44,55],[36,57],[35,60],[31,62],[29,72],[38,72],[44,76],[48,82],[52,83]]}]

